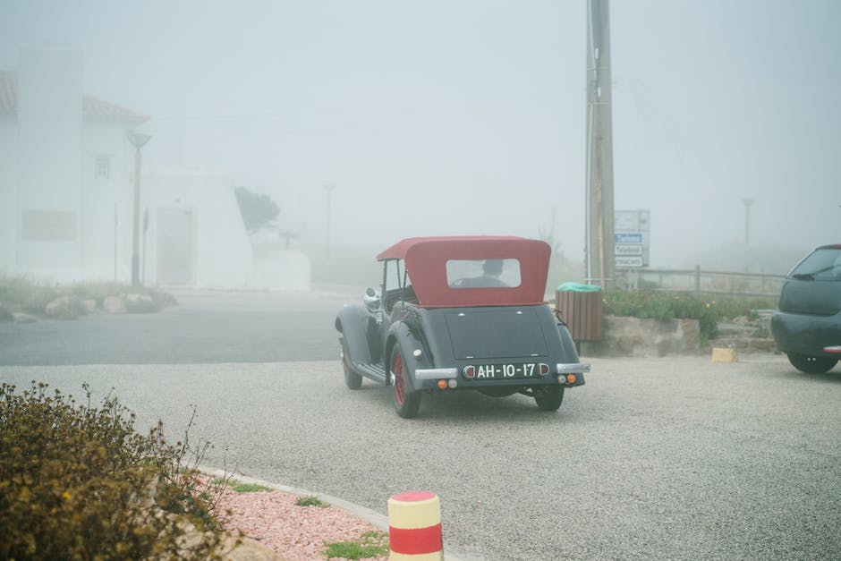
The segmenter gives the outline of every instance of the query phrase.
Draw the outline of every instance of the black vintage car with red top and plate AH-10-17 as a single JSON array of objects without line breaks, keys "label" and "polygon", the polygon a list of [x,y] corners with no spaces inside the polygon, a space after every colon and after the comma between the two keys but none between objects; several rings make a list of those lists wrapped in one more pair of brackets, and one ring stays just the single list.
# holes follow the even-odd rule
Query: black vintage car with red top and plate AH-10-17
[{"label": "black vintage car with red top and plate AH-10-17", "polygon": [[556,411],[590,365],[544,301],[549,255],[546,242],[497,236],[408,238],[381,252],[380,289],[336,317],[347,387],[392,387],[404,418],[421,395],[459,390]]}]

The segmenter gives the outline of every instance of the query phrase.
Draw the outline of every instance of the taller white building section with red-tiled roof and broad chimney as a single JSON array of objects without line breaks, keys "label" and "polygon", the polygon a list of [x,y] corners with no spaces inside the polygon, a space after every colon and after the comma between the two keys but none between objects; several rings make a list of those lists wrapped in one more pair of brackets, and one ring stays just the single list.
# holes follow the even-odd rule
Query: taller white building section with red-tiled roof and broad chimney
[{"label": "taller white building section with red-tiled roof and broad chimney", "polygon": [[20,72],[0,72],[0,271],[129,278],[125,132],[147,119],[84,96],[78,53],[21,50]]}]

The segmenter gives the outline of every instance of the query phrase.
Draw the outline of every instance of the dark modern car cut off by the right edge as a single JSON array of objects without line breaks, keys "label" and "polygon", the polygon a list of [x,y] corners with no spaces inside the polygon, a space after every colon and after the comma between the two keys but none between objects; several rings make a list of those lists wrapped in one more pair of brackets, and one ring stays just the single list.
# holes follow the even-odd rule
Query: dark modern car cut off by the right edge
[{"label": "dark modern car cut off by the right edge", "polygon": [[797,370],[820,373],[836,365],[841,357],[841,244],[820,246],[786,276],[771,333]]}]

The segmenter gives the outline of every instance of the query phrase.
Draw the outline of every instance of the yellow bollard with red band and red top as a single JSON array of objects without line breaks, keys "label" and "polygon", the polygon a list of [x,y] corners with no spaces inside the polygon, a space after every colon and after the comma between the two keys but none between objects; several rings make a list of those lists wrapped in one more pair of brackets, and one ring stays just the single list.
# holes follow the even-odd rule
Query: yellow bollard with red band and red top
[{"label": "yellow bollard with red band and red top", "polygon": [[441,502],[435,493],[409,491],[388,499],[388,547],[391,561],[444,558]]}]

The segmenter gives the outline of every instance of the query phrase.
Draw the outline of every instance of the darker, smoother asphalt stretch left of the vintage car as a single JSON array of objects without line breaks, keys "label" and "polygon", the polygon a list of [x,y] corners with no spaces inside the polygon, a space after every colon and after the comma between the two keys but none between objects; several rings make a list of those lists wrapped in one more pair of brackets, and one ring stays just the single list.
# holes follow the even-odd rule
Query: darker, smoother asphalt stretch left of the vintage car
[{"label": "darker, smoother asphalt stretch left of the vintage car", "polygon": [[362,292],[176,292],[179,304],[160,313],[0,322],[0,365],[333,359],[336,312]]}]

